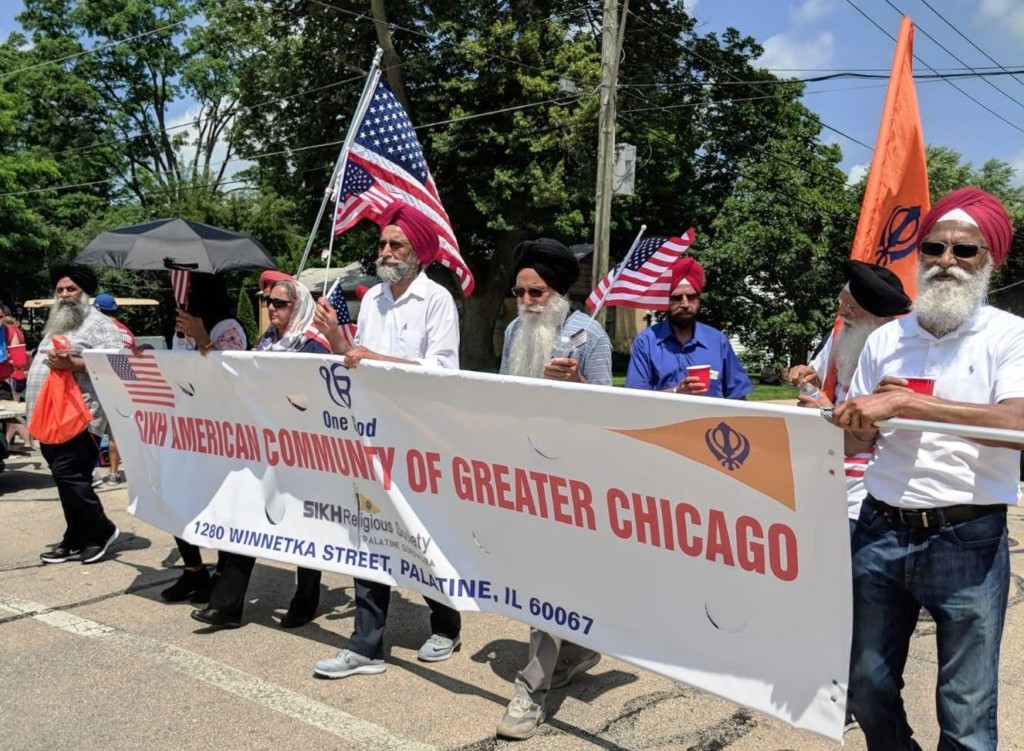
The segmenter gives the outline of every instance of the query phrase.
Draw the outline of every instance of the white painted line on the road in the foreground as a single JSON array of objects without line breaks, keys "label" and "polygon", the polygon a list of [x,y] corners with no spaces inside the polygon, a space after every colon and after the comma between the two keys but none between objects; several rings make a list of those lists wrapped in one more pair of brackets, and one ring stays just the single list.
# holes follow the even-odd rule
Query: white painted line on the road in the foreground
[{"label": "white painted line on the road in the foreground", "polygon": [[392,734],[378,724],[359,719],[335,707],[257,678],[238,668],[197,655],[180,646],[120,631],[113,626],[81,618],[73,613],[15,597],[0,595],[0,610],[30,616],[47,626],[76,636],[110,639],[147,660],[159,660],[173,670],[199,678],[221,691],[258,704],[300,722],[330,733],[357,748],[380,751],[435,751],[433,746]]}]

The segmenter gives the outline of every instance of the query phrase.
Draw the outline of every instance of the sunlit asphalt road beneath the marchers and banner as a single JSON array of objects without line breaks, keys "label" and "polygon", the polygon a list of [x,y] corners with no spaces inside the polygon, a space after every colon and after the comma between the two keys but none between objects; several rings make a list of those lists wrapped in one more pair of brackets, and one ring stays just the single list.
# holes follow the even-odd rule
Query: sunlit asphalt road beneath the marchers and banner
[{"label": "sunlit asphalt road beneath the marchers and banner", "polygon": [[[526,655],[526,626],[490,615],[464,619],[464,646],[425,665],[427,609],[393,594],[383,675],[316,679],[311,666],[345,645],[352,582],[326,574],[322,614],[280,628],[294,586],[284,566],[260,562],[246,625],[210,632],[190,606],[165,604],[177,578],[170,536],[125,511],[127,492],[102,491],[122,535],[111,559],[44,567],[39,553],[63,529],[60,505],[38,454],[0,474],[0,747],[4,749],[393,749],[487,751],[516,747],[647,751],[765,751],[836,744],[633,666],[604,658],[554,692],[551,718],[529,741],[494,727]],[[1024,539],[1024,514],[1011,511]],[[1014,543],[1013,583],[1000,666],[1000,748],[1024,749],[1024,557]],[[215,559],[213,552],[207,560]],[[613,593],[609,593],[613,596]],[[910,722],[925,748],[937,740],[933,627],[918,627],[907,665]],[[846,736],[859,750],[859,732]]]}]

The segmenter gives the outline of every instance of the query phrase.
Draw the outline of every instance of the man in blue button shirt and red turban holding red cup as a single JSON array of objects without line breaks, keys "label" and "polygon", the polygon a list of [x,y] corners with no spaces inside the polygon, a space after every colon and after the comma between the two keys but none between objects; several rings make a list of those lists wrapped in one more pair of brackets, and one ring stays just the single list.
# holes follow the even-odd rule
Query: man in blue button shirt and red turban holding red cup
[{"label": "man in blue button shirt and red turban holding red cup", "polygon": [[[690,256],[682,256],[672,266],[669,309],[662,323],[633,340],[628,388],[674,391],[691,395],[744,399],[754,390],[732,345],[718,329],[697,321],[703,268]],[[710,366],[711,384],[687,375],[691,366]]]}]

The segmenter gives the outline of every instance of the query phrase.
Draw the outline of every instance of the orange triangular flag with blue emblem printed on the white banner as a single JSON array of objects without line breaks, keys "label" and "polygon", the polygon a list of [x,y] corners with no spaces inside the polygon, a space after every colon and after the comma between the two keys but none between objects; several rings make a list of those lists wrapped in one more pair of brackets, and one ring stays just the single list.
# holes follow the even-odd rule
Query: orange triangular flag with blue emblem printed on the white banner
[{"label": "orange triangular flag with blue emblem printed on the white banner", "polygon": [[790,432],[780,417],[711,417],[613,432],[703,464],[797,509]]}]

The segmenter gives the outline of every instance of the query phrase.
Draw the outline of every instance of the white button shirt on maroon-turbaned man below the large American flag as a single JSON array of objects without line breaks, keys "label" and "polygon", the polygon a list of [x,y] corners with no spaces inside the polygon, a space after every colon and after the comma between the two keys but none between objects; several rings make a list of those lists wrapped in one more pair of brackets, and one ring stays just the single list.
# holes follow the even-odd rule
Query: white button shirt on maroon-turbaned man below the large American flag
[{"label": "white button shirt on maroon-turbaned man below the large American flag", "polygon": [[355,343],[427,368],[459,368],[459,311],[452,294],[420,272],[398,299],[378,284],[359,304]]}]

